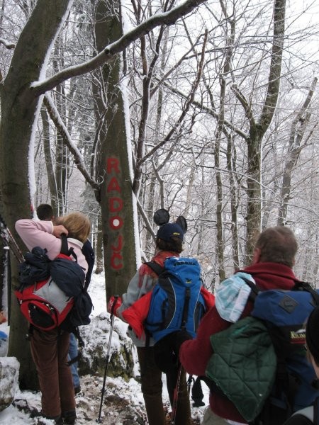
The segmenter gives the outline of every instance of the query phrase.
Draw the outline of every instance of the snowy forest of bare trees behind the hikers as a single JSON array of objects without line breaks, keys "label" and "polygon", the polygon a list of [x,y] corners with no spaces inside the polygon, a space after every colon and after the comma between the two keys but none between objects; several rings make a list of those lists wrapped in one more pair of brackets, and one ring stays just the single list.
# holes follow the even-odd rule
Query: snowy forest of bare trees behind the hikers
[{"label": "snowy forest of bare trees behind the hikers", "polygon": [[[184,254],[212,292],[260,229],[287,225],[296,275],[315,285],[318,0],[0,5],[0,213],[17,241],[40,203],[84,212],[107,299],[152,256],[159,208],[186,218]],[[21,364],[25,329],[12,302]]]}]

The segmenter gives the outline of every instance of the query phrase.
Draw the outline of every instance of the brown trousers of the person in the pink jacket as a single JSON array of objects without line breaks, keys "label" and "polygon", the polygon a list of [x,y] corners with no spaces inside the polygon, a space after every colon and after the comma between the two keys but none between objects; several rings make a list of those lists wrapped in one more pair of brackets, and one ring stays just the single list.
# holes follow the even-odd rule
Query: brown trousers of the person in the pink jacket
[{"label": "brown trousers of the person in the pink jacket", "polygon": [[69,333],[33,328],[31,353],[42,393],[42,411],[55,417],[75,409],[71,369],[67,365]]}]

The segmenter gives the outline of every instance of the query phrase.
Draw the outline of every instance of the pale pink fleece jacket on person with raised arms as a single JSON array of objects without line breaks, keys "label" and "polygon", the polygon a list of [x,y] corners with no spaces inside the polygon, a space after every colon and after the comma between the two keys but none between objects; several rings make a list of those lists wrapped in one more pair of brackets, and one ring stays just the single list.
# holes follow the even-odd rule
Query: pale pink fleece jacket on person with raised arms
[{"label": "pale pink fleece jacket on person with raised arms", "polygon": [[[21,237],[27,248],[31,251],[35,246],[47,249],[47,256],[50,260],[60,254],[61,239],[55,237],[53,232],[53,224],[50,221],[35,221],[30,219],[18,220],[16,222],[16,231]],[[87,263],[84,254],[82,254],[82,242],[77,239],[67,238],[69,248],[74,249],[74,254],[77,255],[79,266],[84,268],[84,273],[87,271]]]}]

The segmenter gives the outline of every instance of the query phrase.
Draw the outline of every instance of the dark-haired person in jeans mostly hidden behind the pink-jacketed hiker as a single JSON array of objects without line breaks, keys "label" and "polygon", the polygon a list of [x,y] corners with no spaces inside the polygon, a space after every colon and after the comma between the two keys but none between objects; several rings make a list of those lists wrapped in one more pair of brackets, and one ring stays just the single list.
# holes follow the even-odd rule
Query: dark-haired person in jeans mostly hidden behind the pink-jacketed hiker
[{"label": "dark-haired person in jeans mostly hidden behind the pink-jacketed hiker", "polygon": [[[37,207],[37,215],[39,220],[45,220],[45,221],[52,221],[53,224],[58,225],[60,224],[59,217],[55,218],[55,215],[53,213],[53,208],[50,204],[40,204]],[[84,288],[88,288],[89,283],[91,281],[91,274],[94,267],[94,261],[95,261],[95,254],[94,250],[91,246],[91,242],[89,239],[86,239],[82,246],[82,253],[85,256],[86,263],[88,263],[88,270],[86,271],[85,276],[85,286]],[[72,332],[69,335],[69,360],[72,360],[73,358],[78,357],[78,348],[77,348],[77,338]],[[81,392],[81,383],[79,378],[79,370],[78,370],[78,363],[77,361],[74,361],[70,365],[71,371],[72,371],[72,379],[73,379],[73,386],[74,386],[74,394],[79,394]]]}]

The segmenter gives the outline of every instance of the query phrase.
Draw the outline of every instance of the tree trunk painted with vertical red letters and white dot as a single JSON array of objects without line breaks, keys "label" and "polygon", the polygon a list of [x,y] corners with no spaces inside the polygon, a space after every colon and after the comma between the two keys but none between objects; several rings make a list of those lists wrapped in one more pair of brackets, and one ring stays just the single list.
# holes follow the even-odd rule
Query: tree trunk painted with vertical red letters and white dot
[{"label": "tree trunk painted with vertical red letters and white dot", "polygon": [[[122,35],[119,7],[119,1],[102,0],[96,6],[95,36],[98,51]],[[105,88],[106,99],[103,101],[103,94],[96,98],[99,116],[106,104],[112,106],[106,110],[100,132],[99,158],[99,175],[103,176],[100,202],[107,298],[124,293],[137,268],[129,161],[131,152],[128,150],[129,134],[120,88],[120,66],[120,57],[112,64],[104,65],[101,69],[101,84]]]}]

